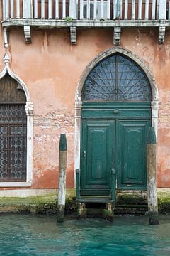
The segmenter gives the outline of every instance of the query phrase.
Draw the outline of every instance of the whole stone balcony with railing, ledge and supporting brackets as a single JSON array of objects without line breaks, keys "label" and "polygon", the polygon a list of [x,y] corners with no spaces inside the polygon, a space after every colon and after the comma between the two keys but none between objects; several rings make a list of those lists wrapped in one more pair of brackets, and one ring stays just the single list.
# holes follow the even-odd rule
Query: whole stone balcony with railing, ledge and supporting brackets
[{"label": "whole stone balcony with railing, ledge and supporting brackets", "polygon": [[3,0],[5,46],[8,28],[23,27],[26,43],[30,28],[69,28],[71,43],[77,43],[77,28],[113,28],[113,43],[120,44],[121,28],[159,29],[164,43],[170,26],[170,1],[166,0]]}]

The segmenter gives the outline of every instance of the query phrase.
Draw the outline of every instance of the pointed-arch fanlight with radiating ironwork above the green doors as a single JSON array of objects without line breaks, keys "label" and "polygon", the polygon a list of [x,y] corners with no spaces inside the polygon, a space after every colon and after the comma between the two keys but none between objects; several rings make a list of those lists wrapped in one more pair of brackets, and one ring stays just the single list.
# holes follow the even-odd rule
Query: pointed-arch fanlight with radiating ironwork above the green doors
[{"label": "pointed-arch fanlight with radiating ironwork above the green doors", "polygon": [[152,92],[142,69],[129,58],[115,54],[98,63],[89,73],[81,100],[149,102]]}]

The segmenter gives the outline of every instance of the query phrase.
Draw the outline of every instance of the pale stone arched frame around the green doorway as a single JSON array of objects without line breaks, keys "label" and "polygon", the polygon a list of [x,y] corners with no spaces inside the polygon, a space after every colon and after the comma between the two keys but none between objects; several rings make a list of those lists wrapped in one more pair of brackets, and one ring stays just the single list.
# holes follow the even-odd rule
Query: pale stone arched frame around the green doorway
[{"label": "pale stone arched frame around the green doorway", "polygon": [[134,53],[130,52],[129,50],[126,50],[125,48],[120,47],[113,47],[110,48],[100,55],[98,55],[94,60],[89,63],[89,65],[86,66],[84,72],[81,75],[81,78],[79,79],[78,85],[77,85],[77,91],[75,95],[75,117],[74,117],[74,187],[76,188],[76,169],[80,169],[80,150],[81,150],[81,108],[82,108],[82,102],[81,102],[81,90],[84,86],[84,82],[91,72],[91,70],[103,59],[107,58],[110,55],[113,55],[115,53],[121,53],[125,55],[125,57],[130,58],[133,60],[137,65],[140,66],[140,68],[145,72],[145,75],[147,75],[147,78],[149,80],[149,84],[151,86],[152,90],[152,102],[151,102],[151,109],[152,109],[152,127],[154,127],[156,138],[157,138],[157,127],[158,127],[158,111],[159,111],[159,93],[157,89],[156,82],[154,80],[154,77],[147,67],[147,65]]}]

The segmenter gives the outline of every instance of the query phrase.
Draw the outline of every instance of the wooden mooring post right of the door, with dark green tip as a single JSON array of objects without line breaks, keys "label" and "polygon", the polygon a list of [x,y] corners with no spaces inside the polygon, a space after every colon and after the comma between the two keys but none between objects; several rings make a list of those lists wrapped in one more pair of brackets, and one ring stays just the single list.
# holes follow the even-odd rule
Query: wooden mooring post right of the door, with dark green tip
[{"label": "wooden mooring post right of the door, with dark green tip", "polygon": [[147,203],[149,224],[159,225],[157,207],[157,141],[154,127],[147,134]]}]

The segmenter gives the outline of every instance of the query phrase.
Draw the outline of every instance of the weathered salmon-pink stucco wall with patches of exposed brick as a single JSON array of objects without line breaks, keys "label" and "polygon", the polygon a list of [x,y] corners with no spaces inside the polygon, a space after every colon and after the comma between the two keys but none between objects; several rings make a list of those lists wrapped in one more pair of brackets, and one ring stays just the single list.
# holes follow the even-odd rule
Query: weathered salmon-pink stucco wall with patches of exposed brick
[{"label": "weathered salmon-pink stucco wall with patches of exposed brick", "polygon": [[[77,31],[77,46],[69,30],[31,30],[26,45],[22,28],[10,29],[11,70],[27,85],[34,103],[33,186],[57,188],[60,134],[67,134],[67,188],[74,187],[74,98],[86,65],[113,47],[113,30]],[[135,53],[151,70],[159,90],[157,186],[170,187],[170,33],[158,44],[157,29],[124,29],[121,46]],[[0,68],[6,52],[0,41]]]}]

